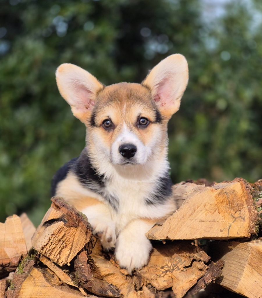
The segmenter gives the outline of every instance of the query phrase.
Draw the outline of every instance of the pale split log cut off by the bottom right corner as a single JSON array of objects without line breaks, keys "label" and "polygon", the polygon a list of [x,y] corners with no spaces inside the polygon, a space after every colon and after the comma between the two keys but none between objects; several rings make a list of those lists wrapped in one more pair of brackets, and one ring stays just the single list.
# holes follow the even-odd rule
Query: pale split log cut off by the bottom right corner
[{"label": "pale split log cut off by the bottom right corner", "polygon": [[250,242],[214,243],[213,258],[224,260],[217,283],[249,298],[262,297],[262,238]]}]

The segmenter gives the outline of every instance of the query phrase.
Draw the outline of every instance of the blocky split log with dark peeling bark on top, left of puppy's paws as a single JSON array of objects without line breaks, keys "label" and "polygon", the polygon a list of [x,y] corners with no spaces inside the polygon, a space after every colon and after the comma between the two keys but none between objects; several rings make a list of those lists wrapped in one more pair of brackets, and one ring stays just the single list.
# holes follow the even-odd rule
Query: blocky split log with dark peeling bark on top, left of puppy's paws
[{"label": "blocky split log with dark peeling bark on top, left of puppy's paws", "polygon": [[52,198],[33,238],[33,247],[60,266],[76,256],[93,237],[87,218],[61,198]]}]

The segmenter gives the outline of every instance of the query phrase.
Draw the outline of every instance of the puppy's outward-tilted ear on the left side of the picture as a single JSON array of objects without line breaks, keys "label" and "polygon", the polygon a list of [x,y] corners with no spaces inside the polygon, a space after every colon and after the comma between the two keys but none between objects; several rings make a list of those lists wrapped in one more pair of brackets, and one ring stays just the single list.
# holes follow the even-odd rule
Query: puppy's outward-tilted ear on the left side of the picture
[{"label": "puppy's outward-tilted ear on the left side of the picture", "polygon": [[89,72],[70,63],[61,64],[55,74],[60,94],[71,106],[74,116],[86,123],[96,94],[104,86]]}]

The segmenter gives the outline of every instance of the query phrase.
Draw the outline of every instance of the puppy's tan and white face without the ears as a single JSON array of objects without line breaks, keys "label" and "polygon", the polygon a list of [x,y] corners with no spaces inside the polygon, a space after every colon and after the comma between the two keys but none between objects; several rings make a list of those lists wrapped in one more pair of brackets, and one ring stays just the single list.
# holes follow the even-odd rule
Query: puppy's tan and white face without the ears
[{"label": "puppy's tan and white face without the ears", "polygon": [[144,164],[163,135],[163,120],[151,92],[141,84],[119,83],[99,92],[88,137],[112,164]]}]

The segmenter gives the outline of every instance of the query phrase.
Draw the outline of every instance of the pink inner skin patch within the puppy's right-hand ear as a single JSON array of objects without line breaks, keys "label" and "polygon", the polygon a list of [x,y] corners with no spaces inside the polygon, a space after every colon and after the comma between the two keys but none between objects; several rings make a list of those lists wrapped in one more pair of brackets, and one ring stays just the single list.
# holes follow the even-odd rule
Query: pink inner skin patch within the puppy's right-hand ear
[{"label": "pink inner skin patch within the puppy's right-hand ear", "polygon": [[172,83],[169,77],[163,78],[158,84],[155,95],[155,102],[161,106],[169,105],[172,102]]}]

